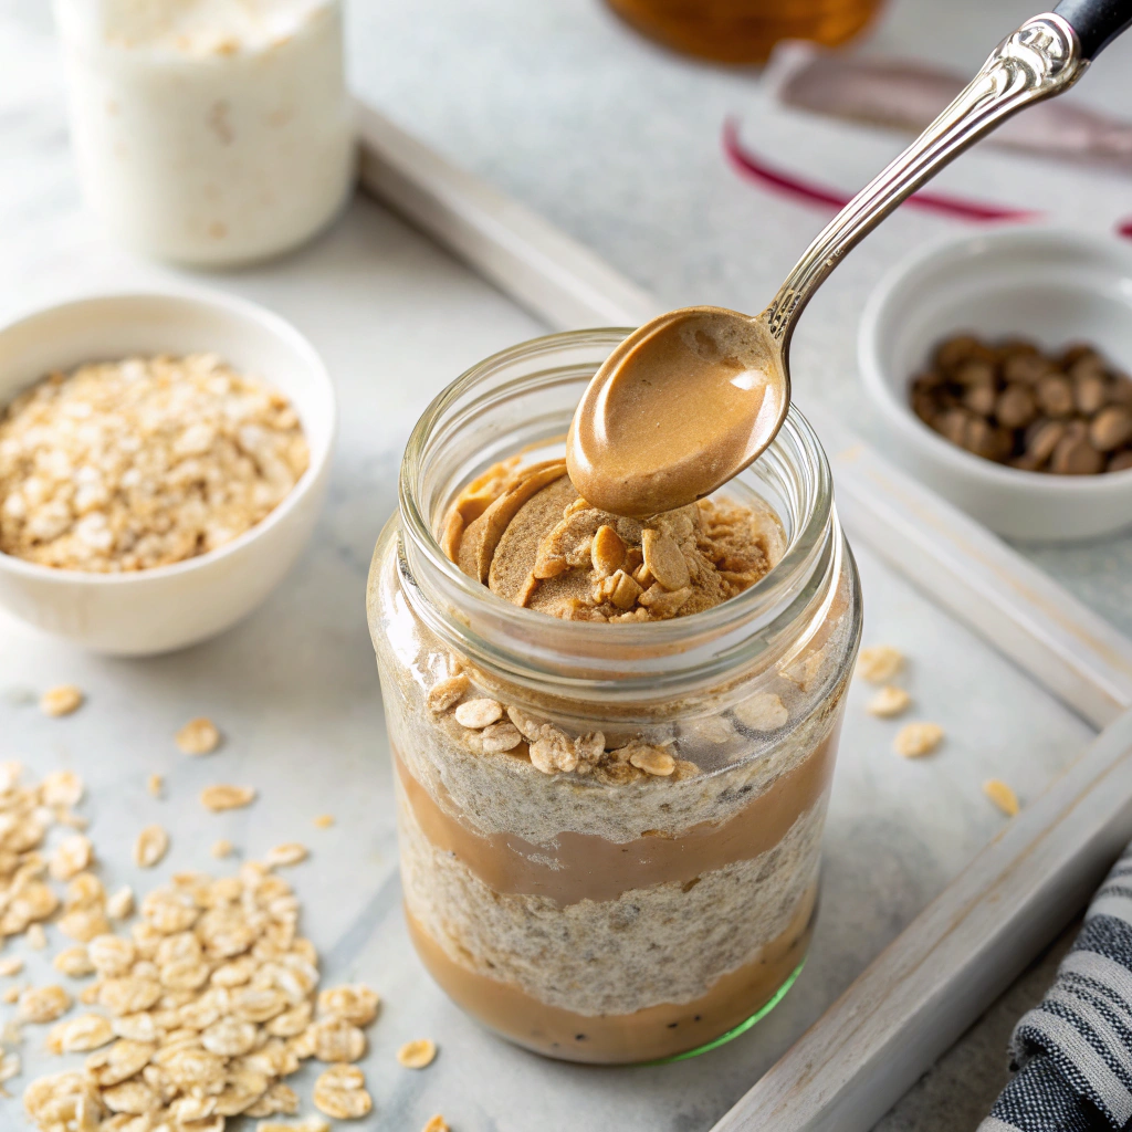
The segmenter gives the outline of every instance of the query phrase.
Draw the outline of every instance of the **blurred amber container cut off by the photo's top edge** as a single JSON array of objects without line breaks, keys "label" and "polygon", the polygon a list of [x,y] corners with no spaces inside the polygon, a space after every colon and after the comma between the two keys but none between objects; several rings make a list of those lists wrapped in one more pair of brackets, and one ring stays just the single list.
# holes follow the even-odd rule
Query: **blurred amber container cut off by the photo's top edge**
[{"label": "blurred amber container cut off by the photo's top edge", "polygon": [[779,40],[835,48],[873,18],[881,0],[609,0],[624,20],[674,51],[757,63]]}]

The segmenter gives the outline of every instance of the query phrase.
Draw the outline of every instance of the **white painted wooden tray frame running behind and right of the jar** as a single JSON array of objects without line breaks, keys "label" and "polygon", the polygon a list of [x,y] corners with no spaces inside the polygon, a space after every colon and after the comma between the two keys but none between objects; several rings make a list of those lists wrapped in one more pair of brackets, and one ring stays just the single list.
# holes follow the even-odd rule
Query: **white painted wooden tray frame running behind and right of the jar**
[{"label": "white painted wooden tray frame running behind and right of the jar", "polygon": [[[586,248],[374,110],[359,106],[359,123],[365,188],[549,326],[637,325],[661,309]],[[1132,838],[1132,642],[839,423],[809,415],[852,538],[1107,730],[713,1132],[871,1127],[1065,926]]]}]

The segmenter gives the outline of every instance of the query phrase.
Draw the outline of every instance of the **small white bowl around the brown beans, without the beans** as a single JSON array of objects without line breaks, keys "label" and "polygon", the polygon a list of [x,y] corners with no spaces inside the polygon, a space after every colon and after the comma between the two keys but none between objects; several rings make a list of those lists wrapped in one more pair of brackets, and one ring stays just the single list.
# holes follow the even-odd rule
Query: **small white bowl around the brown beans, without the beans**
[{"label": "small white bowl around the brown beans, without the beans", "polygon": [[914,474],[1009,538],[1067,542],[1132,524],[1132,470],[1026,472],[974,456],[929,429],[908,386],[934,348],[964,331],[1056,350],[1088,342],[1132,372],[1132,249],[1046,226],[934,243],[899,263],[869,297],[858,335],[865,387]]}]

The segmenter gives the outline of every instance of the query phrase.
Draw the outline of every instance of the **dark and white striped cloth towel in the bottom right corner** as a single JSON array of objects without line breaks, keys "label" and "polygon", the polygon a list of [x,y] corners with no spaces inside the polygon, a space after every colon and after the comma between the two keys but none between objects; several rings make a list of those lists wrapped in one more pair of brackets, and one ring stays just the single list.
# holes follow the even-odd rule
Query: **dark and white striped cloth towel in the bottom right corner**
[{"label": "dark and white striped cloth towel in the bottom right corner", "polygon": [[1010,1055],[1017,1073],[979,1132],[1132,1127],[1132,846],[1046,997],[1014,1028]]}]

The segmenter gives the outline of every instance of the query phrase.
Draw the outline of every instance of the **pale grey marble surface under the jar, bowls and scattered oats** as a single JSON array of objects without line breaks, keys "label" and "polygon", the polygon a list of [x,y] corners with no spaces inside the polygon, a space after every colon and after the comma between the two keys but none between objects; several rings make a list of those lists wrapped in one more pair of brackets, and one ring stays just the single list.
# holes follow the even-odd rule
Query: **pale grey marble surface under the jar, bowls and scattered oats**
[{"label": "pale grey marble surface under the jar, bowls and scattered oats", "polygon": [[[186,278],[130,259],[83,212],[43,7],[0,0],[0,318],[88,288]],[[351,41],[359,88],[666,298],[743,306],[744,295],[773,286],[775,273],[823,220],[726,182],[718,127],[727,110],[749,113],[757,103],[749,72],[674,60],[628,36],[594,3],[440,7],[443,16],[422,20],[402,0],[359,0]],[[915,26],[908,10],[918,7],[926,10],[895,5],[880,42],[887,42],[885,35],[907,42]],[[952,28],[952,44],[961,38]],[[602,120],[602,103],[624,106],[624,117]],[[663,126],[649,134],[648,161],[628,160],[627,131],[644,121],[650,105]],[[886,144],[874,137],[873,152]],[[839,160],[848,160],[847,148]],[[683,179],[676,175],[681,170]],[[805,357],[813,375],[807,395],[838,406],[866,431],[872,422],[851,365],[856,311],[885,257],[932,228],[921,217],[898,220],[910,228],[883,240],[882,231],[861,249],[854,272],[847,265],[843,282],[807,315],[811,332],[799,341],[799,372]],[[732,229],[752,233],[749,257],[724,239]],[[277,264],[189,278],[278,310],[327,361],[343,411],[316,539],[257,614],[214,642],[170,657],[82,655],[0,617],[0,757],[19,756],[36,775],[70,766],[89,781],[86,813],[95,844],[104,847],[108,886],[128,881],[145,891],[152,883],[126,864],[135,826],[149,821],[173,834],[170,857],[153,878],[215,869],[207,846],[216,837],[230,838],[248,856],[285,840],[311,847],[311,860],[292,876],[307,908],[305,931],[324,957],[325,981],[365,979],[386,1000],[363,1063],[377,1101],[365,1127],[413,1132],[441,1110],[455,1132],[703,1132],[993,835],[1001,818],[979,794],[984,772],[993,767],[1012,779],[1024,798],[1091,734],[860,547],[871,595],[867,634],[914,658],[914,694],[926,718],[946,727],[949,744],[946,757],[929,766],[895,760],[892,724],[865,715],[864,692],[854,689],[830,816],[823,918],[805,977],[747,1038],[666,1069],[581,1069],[487,1038],[432,986],[405,940],[362,595],[413,421],[468,365],[540,327],[362,200],[321,240]],[[1086,600],[1132,627],[1129,540],[1035,554]],[[44,719],[35,693],[65,680],[84,687],[88,703],[68,719]],[[993,702],[987,687],[995,688]],[[214,756],[187,760],[171,736],[201,713],[216,719],[228,740]],[[145,791],[151,772],[166,778],[164,800]],[[196,795],[209,781],[252,783],[261,797],[247,811],[208,815]],[[312,817],[321,812],[338,818],[333,830],[315,830]],[[49,935],[53,946],[60,942],[54,929]],[[1048,983],[1056,954],[1045,957],[893,1109],[882,1122],[885,1132],[974,1127],[1004,1078],[1006,1034]],[[29,954],[28,963],[33,978],[45,979],[43,955]],[[441,1055],[427,1073],[406,1074],[393,1050],[420,1036],[435,1038]],[[27,1049],[29,1072],[58,1065],[38,1040]],[[300,1094],[309,1095],[309,1074],[300,1079]],[[9,1126],[23,1122],[17,1104],[2,1101],[0,1127]]]}]

